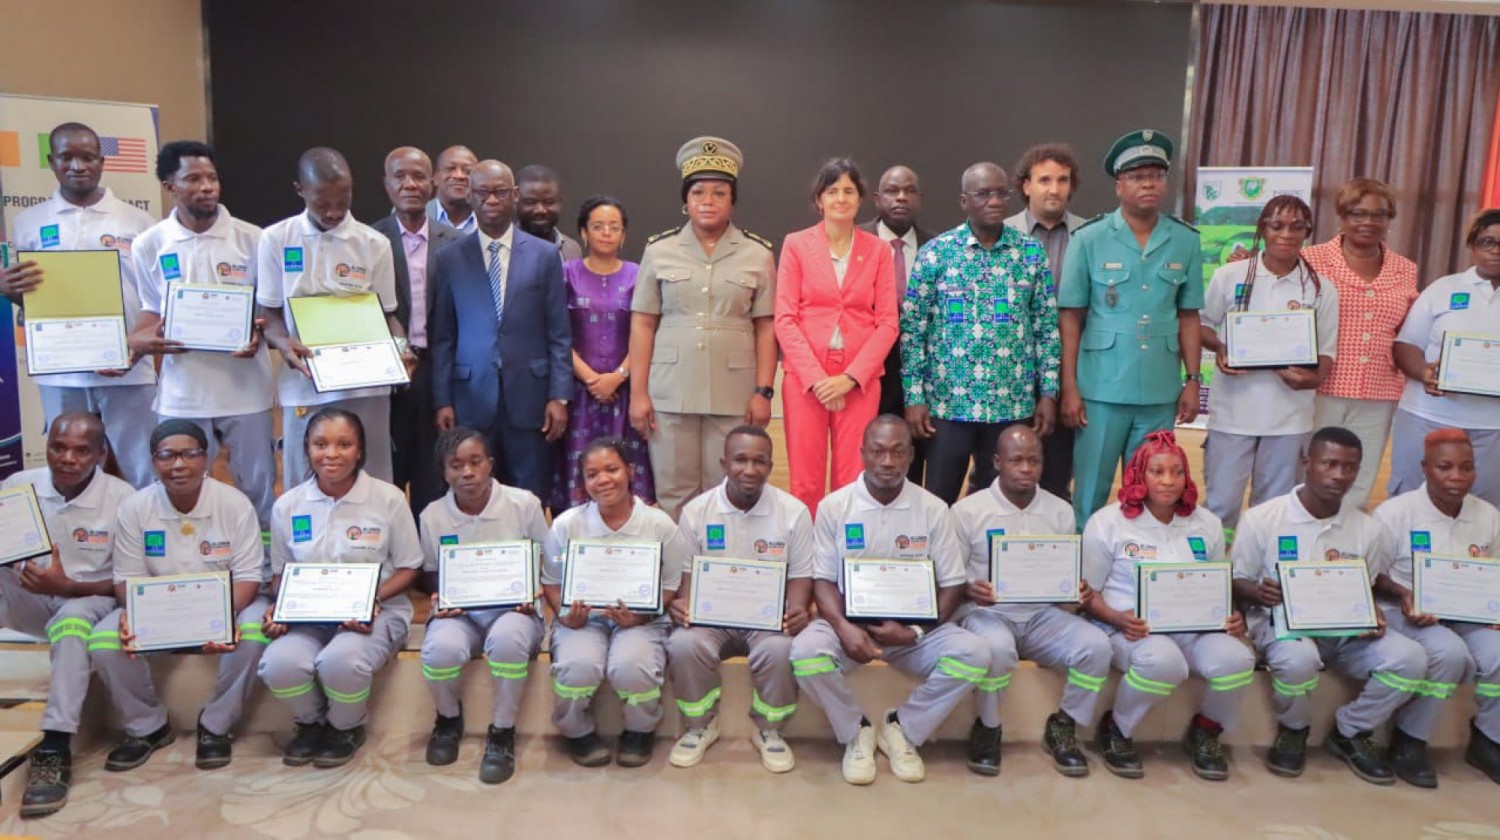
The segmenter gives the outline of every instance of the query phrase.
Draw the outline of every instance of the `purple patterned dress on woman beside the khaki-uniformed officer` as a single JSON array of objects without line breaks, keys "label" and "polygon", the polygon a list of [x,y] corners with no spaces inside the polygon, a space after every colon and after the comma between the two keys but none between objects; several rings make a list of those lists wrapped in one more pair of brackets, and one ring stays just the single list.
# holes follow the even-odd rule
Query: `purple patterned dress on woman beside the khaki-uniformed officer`
[{"label": "purple patterned dress on woman beside the khaki-uniformed officer", "polygon": [[[594,370],[606,374],[616,370],[630,350],[630,298],[636,290],[636,270],[640,266],[624,262],[618,272],[600,276],[590,272],[582,260],[562,264],[562,279],[567,282],[567,314],[573,326],[573,350]],[[588,501],[584,478],[578,471],[578,456],[594,438],[621,438],[630,464],[636,468],[632,489],[646,502],[656,502],[656,486],[651,478],[651,458],[640,435],[630,428],[630,382],[622,382],[615,392],[614,404],[602,404],[590,396],[584,382],[573,381],[573,399],[568,402],[567,436],[558,450],[561,458],[552,476],[554,516]]]}]

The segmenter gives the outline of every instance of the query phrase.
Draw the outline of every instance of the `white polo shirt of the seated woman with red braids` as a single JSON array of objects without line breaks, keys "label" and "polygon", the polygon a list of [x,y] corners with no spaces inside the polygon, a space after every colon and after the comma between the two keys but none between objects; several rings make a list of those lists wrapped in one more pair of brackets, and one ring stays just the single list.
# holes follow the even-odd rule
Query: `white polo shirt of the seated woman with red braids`
[{"label": "white polo shirt of the seated woman with red braids", "polygon": [[1083,526],[1083,578],[1112,609],[1136,609],[1137,562],[1222,562],[1224,524],[1202,504],[1161,522],[1143,510],[1126,519],[1119,502]]}]

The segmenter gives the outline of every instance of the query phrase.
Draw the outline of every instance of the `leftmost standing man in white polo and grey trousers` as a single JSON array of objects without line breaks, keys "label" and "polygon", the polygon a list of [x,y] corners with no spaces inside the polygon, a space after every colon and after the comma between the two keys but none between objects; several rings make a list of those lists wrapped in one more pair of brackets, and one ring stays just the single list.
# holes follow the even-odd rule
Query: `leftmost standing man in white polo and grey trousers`
[{"label": "leftmost standing man in white polo and grey trousers", "polygon": [[[124,327],[135,327],[141,310],[140,286],[130,262],[130,244],[156,224],[146,212],[99,186],[104,152],[99,135],[82,123],[63,123],[46,138],[46,164],[57,178],[52,198],[27,207],[15,218],[10,238],[21,250],[98,250],[120,252],[120,279],[124,297]],[[21,296],[45,282],[36,262],[16,262],[0,272],[0,292],[21,304]],[[156,400],[156,370],[150,360],[130,354],[122,370],[86,374],[48,374],[34,376],[48,424],[69,411],[88,411],[104,418],[110,450],[120,474],[136,488],[153,480],[147,438],[156,428],[152,404]]]}]

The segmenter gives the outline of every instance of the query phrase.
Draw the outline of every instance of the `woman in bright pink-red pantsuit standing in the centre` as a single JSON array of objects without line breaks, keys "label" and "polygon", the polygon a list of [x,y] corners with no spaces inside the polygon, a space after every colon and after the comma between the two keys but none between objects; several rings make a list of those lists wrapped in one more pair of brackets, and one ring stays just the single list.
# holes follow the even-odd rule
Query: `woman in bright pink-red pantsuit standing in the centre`
[{"label": "woman in bright pink-red pantsuit standing in the centre", "polygon": [[854,160],[824,164],[813,206],[824,220],[786,237],[776,274],[792,495],[818,510],[828,486],[860,476],[860,440],[880,405],[897,336],[896,268],[879,237],[856,230],[864,178]]}]

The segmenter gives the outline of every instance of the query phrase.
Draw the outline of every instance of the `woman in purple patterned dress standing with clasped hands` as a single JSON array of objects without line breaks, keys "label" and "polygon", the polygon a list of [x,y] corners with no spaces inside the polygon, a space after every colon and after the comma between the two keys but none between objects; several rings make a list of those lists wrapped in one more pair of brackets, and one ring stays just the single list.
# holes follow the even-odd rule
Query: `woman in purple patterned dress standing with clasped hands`
[{"label": "woman in purple patterned dress standing with clasped hands", "polygon": [[588,501],[578,472],[578,456],[594,438],[620,438],[634,466],[632,490],[656,502],[651,459],[640,435],[630,428],[630,387],[626,354],[630,345],[630,297],[640,267],[620,258],[626,243],[626,208],[618,200],[596,195],[578,213],[584,258],[562,264],[567,309],[573,324],[573,399],[564,446],[552,476],[554,516]]}]

